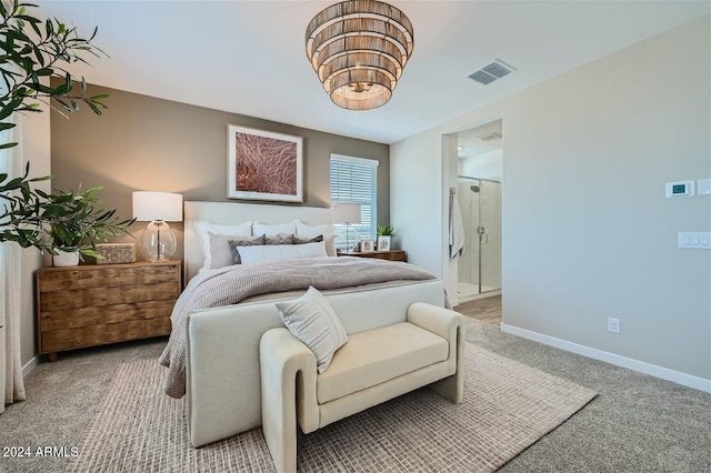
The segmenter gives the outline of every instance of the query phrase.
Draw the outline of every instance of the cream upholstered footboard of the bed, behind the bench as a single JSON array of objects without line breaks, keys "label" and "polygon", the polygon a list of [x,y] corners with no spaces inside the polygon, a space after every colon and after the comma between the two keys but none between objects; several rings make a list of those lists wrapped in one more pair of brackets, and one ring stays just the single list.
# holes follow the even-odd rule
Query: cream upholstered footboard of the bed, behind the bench
[{"label": "cream upholstered footboard of the bed, behind the bench", "polygon": [[[349,339],[352,334],[407,322],[412,303],[443,308],[445,301],[439,280],[336,290],[324,295]],[[186,416],[194,446],[262,424],[259,343],[268,330],[284,326],[274,302],[248,302],[188,316]]]}]

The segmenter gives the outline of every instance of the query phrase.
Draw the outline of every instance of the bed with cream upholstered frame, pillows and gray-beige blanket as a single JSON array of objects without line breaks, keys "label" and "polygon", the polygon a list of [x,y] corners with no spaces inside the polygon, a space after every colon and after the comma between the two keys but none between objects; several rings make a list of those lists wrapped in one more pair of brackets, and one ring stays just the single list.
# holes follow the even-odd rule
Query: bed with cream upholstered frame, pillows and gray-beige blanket
[{"label": "bed with cream upholstered frame, pillows and gray-beige blanket", "polygon": [[[252,239],[270,232],[286,238],[293,224],[294,234],[309,242],[249,251],[240,243],[239,254],[247,259],[243,264],[220,268],[227,260],[220,264],[218,260],[234,251],[218,255],[213,249],[222,251],[227,240],[210,232],[210,246],[206,228],[240,228],[246,222],[252,222]],[[299,298],[310,285],[317,286],[336,306],[348,333],[398,323],[413,302],[445,304],[441,281],[411,264],[336,258],[328,234],[332,231],[330,209],[184,203],[187,285],[173,310],[173,329],[161,362],[169,370],[166,393],[172,397],[186,394],[194,446],[261,425],[259,341],[267,330],[283,326],[274,302]],[[318,240],[316,233],[322,233],[322,240],[312,242],[310,239]],[[316,249],[314,255],[308,254],[309,248]],[[206,252],[213,253],[212,260]],[[261,259],[276,252],[288,258]],[[292,259],[293,252],[310,258]],[[256,260],[251,259],[254,254]],[[218,268],[206,270],[206,265]]]}]

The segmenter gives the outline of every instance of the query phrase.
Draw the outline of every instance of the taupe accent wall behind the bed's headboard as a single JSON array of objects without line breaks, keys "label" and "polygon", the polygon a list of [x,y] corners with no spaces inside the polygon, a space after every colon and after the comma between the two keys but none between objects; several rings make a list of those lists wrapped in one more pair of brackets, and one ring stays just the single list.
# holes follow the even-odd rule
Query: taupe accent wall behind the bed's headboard
[{"label": "taupe accent wall behind the bed's headboard", "polygon": [[[110,94],[109,109],[101,117],[87,108],[69,120],[52,114],[54,189],[103,185],[98,194],[103,203],[127,218],[132,217],[131,192],[137,190],[178,192],[184,200],[229,201],[227,125],[231,123],[303,137],[304,205],[330,205],[331,153],[378,160],[378,222],[390,221],[388,144],[97,85],[90,87],[90,93]],[[136,234],[144,227],[134,224]],[[171,228],[179,240],[177,258],[181,258],[182,223]]]}]

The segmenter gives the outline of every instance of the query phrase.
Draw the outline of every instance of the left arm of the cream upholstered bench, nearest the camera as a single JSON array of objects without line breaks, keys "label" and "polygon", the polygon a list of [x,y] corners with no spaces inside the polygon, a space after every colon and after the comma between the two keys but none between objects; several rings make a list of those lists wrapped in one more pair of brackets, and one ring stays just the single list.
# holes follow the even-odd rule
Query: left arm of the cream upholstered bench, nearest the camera
[{"label": "left arm of the cream upholstered bench, nearest the camera", "polygon": [[[316,356],[289,330],[272,329],[261,338],[259,362],[262,433],[277,471],[296,472],[297,391],[316,404]],[[299,414],[302,422],[318,427],[318,410],[308,409]]]}]

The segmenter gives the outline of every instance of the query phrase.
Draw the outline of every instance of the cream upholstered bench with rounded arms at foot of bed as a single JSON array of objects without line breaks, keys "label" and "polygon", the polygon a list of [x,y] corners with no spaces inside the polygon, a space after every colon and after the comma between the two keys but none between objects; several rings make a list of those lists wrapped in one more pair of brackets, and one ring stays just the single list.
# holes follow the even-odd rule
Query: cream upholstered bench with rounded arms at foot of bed
[{"label": "cream upholstered bench with rounded arms at foot of bed", "polygon": [[303,433],[430,384],[454,403],[463,395],[464,318],[415,302],[407,321],[348,336],[326,371],[287,329],[260,344],[262,432],[278,472],[297,471]]}]

